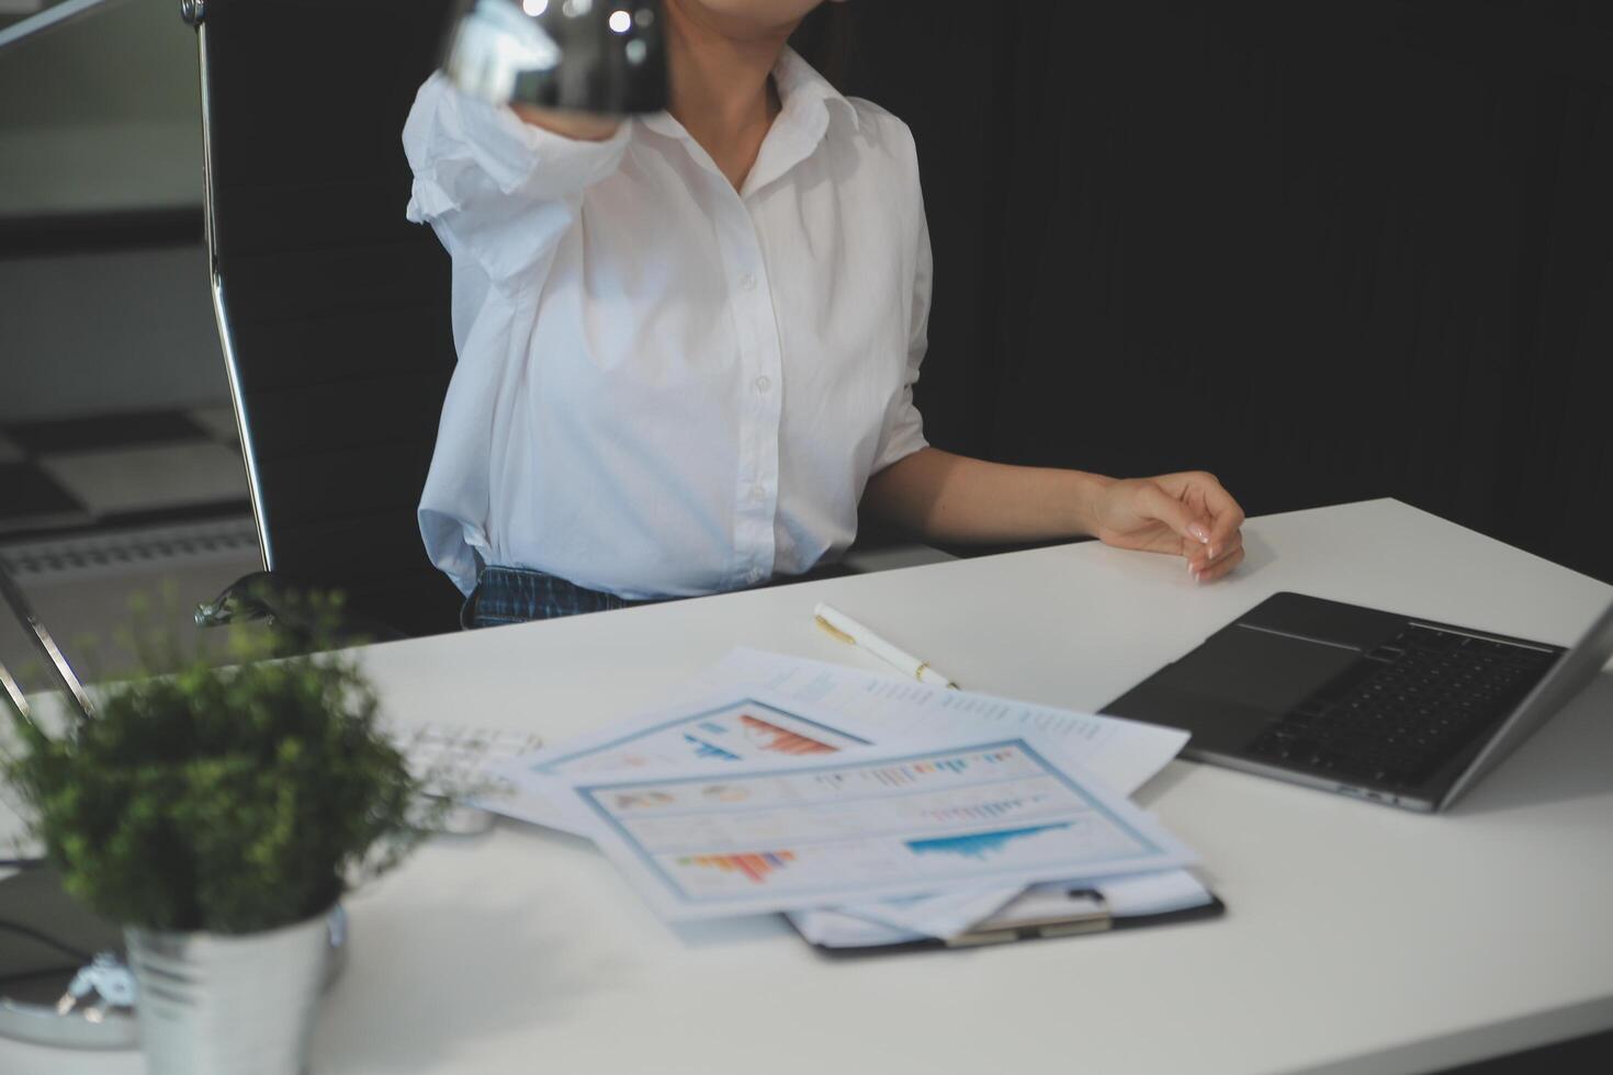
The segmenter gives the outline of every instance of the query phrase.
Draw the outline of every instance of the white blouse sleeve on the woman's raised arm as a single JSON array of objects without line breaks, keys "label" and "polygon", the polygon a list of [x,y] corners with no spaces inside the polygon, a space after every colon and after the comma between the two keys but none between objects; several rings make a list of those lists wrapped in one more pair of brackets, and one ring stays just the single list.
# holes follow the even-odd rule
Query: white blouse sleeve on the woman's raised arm
[{"label": "white blouse sleeve on the woman's raised arm", "polygon": [[431,224],[455,259],[494,287],[545,261],[577,218],[582,192],[621,164],[629,126],[605,142],[566,139],[432,74],[403,124],[415,171],[406,216]]}]

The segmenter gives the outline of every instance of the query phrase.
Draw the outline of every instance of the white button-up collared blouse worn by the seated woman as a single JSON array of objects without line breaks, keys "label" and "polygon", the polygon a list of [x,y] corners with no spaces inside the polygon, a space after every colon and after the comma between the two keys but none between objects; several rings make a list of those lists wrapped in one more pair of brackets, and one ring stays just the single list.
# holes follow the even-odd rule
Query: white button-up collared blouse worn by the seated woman
[{"label": "white button-up collared blouse worn by the seated woman", "polygon": [[460,361],[419,504],[432,561],[624,598],[800,574],[924,446],[931,253],[913,137],[786,50],[744,190],[666,113],[577,142],[440,74],[408,219],[453,259]]}]

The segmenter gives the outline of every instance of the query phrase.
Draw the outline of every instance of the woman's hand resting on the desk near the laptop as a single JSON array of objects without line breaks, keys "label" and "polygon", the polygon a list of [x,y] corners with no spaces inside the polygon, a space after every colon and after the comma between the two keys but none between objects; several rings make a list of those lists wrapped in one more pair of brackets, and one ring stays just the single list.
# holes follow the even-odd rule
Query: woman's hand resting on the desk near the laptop
[{"label": "woman's hand resting on the desk near the laptop", "polygon": [[1092,535],[1105,545],[1182,556],[1198,582],[1244,559],[1244,509],[1203,471],[1110,482],[1090,511]]}]

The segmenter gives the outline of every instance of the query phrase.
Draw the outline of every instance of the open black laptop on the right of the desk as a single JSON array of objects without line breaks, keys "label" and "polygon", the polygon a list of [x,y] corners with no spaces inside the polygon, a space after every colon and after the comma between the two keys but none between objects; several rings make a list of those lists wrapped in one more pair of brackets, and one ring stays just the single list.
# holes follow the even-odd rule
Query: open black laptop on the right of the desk
[{"label": "open black laptop on the right of the desk", "polygon": [[1190,732],[1189,757],[1439,811],[1608,656],[1613,604],[1565,650],[1277,593],[1102,712]]}]

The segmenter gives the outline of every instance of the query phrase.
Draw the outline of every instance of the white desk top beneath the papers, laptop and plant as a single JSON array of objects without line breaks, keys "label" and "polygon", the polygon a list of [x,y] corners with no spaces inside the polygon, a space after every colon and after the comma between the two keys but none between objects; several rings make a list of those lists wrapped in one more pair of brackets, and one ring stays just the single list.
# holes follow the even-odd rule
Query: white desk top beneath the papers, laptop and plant
[{"label": "white desk top beneath the papers, laptop and plant", "polygon": [[[1276,590],[1568,643],[1610,588],[1395,501],[1257,519],[1236,579],[1095,543],[366,651],[402,717],[560,738],[736,643],[860,661],[829,600],[966,687],[1119,695]],[[869,664],[868,667],[874,667]],[[777,920],[674,932],[586,843],[505,825],[350,899],[316,1075],[1421,1072],[1613,1027],[1613,674],[1428,817],[1174,762],[1142,799],[1215,922],[832,961]],[[132,1054],[0,1043],[8,1075]]]}]

